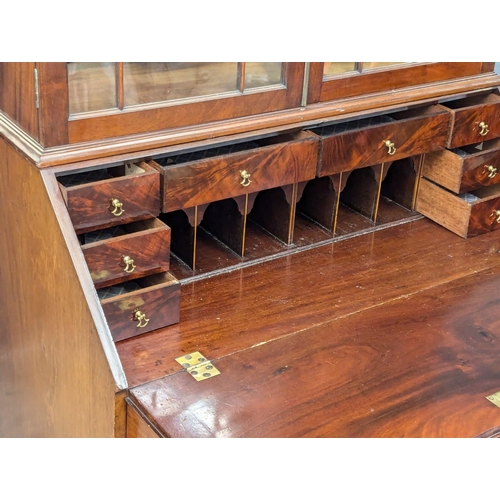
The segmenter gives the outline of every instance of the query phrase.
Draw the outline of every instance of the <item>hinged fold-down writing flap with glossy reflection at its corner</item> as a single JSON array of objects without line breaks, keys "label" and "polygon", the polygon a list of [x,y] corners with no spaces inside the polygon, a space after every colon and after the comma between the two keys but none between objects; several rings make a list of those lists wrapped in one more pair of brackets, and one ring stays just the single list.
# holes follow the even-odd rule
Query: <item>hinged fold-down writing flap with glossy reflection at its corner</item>
[{"label": "hinged fold-down writing flap with glossy reflection at its corner", "polygon": [[498,428],[500,267],[132,389],[169,437],[475,437]]}]

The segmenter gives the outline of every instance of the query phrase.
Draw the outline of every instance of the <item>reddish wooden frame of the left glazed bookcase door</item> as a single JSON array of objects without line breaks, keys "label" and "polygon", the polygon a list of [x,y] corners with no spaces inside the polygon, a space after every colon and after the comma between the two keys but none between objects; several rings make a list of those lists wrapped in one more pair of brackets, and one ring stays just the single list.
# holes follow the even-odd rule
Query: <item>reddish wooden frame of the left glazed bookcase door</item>
[{"label": "reddish wooden frame of the left glazed bookcase door", "polygon": [[[300,107],[304,63],[284,63],[285,88],[270,88],[192,103],[155,103],[116,109],[95,116],[69,116],[67,69],[65,63],[37,63],[40,73],[41,143],[45,147],[73,144],[136,133],[202,125],[256,114]],[[118,73],[120,67],[118,67]],[[50,84],[47,82],[50,81]],[[55,84],[54,84],[55,82]],[[123,96],[118,92],[118,105]],[[55,112],[55,110],[57,112]]]}]

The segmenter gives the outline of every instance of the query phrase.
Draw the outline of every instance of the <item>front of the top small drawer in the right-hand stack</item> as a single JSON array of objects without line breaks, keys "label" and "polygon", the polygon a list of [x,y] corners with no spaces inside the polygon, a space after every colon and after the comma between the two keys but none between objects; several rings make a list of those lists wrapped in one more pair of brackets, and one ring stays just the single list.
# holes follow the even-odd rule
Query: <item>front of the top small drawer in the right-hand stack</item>
[{"label": "front of the top small drawer in the right-hand stack", "polygon": [[500,98],[488,104],[454,110],[449,148],[500,137]]}]

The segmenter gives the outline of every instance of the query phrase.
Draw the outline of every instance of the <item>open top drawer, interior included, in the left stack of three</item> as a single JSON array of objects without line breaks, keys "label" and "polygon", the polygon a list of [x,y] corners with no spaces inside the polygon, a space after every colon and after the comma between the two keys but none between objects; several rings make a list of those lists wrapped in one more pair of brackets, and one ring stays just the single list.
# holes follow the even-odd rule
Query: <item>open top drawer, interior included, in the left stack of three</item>
[{"label": "open top drawer, interior included, in the left stack of three", "polygon": [[77,234],[157,217],[160,174],[147,163],[58,177]]}]

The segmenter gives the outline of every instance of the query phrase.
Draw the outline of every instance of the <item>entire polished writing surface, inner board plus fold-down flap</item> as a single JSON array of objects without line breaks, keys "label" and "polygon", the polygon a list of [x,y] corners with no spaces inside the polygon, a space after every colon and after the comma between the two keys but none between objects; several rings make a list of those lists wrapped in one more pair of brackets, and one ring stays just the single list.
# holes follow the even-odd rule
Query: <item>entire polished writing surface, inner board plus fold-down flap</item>
[{"label": "entire polished writing surface, inner board plus fold-down flap", "polygon": [[[484,434],[499,252],[420,220],[190,283],[178,326],[118,344],[132,398],[171,437]],[[181,371],[193,351],[221,375]]]}]

